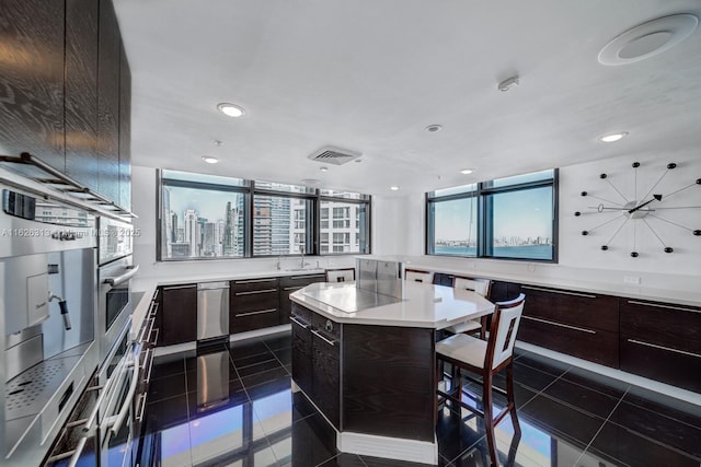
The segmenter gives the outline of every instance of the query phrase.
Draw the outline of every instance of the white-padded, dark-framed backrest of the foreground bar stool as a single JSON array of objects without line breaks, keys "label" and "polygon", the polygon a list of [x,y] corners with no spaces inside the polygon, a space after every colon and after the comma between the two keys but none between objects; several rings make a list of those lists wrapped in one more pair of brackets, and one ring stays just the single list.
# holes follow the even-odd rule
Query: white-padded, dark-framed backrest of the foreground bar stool
[{"label": "white-padded, dark-framed backrest of the foreground bar stool", "polygon": [[[518,325],[521,322],[525,303],[526,295],[522,293],[515,300],[496,303],[490,329],[490,340],[487,341],[485,367],[496,370],[514,354],[516,332],[518,332]],[[490,362],[492,362],[491,365]]]}]

